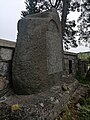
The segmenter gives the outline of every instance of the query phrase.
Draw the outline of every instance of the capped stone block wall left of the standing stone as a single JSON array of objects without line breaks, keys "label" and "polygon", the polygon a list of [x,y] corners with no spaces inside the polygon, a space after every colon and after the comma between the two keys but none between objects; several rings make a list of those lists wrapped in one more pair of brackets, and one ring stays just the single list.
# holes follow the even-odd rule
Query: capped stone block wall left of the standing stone
[{"label": "capped stone block wall left of the standing stone", "polygon": [[0,97],[8,91],[12,77],[15,42],[0,39]]}]

